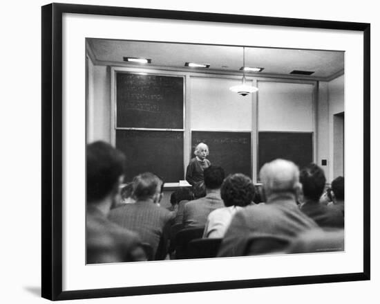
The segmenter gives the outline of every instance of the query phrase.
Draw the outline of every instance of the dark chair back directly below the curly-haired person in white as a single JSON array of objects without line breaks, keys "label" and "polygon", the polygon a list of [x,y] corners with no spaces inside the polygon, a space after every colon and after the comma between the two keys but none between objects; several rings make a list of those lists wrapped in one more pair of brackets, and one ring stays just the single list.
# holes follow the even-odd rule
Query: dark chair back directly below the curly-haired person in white
[{"label": "dark chair back directly below the curly-haired person in white", "polygon": [[191,240],[188,246],[189,258],[216,258],[222,238],[199,238]]}]

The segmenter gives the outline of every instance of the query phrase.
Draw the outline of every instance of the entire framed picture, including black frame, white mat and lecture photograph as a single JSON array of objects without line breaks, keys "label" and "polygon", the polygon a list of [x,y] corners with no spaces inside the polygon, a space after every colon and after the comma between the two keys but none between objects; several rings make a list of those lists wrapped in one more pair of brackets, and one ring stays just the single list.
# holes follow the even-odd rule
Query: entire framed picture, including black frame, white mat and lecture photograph
[{"label": "entire framed picture, including black frame, white mat and lecture photograph", "polygon": [[370,24],[42,8],[42,290],[370,279]]}]

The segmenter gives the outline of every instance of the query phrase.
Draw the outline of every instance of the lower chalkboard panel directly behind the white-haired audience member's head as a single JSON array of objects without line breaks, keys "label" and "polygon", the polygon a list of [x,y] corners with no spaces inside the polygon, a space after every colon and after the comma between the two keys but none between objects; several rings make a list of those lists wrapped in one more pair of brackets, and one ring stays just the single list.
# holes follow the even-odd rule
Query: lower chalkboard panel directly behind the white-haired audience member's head
[{"label": "lower chalkboard panel directly behind the white-haired audience member's head", "polygon": [[274,159],[293,161],[299,168],[312,163],[312,132],[258,132],[257,172]]}]

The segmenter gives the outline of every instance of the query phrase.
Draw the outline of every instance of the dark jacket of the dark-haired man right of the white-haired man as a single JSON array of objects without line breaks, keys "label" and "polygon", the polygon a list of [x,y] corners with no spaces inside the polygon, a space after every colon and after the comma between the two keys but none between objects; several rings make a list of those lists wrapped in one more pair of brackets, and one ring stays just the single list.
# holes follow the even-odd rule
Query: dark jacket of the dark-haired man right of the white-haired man
[{"label": "dark jacket of the dark-haired man right of the white-haired man", "polygon": [[307,201],[301,206],[301,211],[323,229],[344,227],[344,215],[337,208],[329,208],[319,202]]}]

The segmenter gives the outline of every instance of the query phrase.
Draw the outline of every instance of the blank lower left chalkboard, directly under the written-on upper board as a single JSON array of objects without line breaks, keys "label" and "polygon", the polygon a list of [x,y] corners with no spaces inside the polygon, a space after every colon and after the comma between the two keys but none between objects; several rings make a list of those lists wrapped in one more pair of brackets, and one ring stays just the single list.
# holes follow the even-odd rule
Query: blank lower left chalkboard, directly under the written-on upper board
[{"label": "blank lower left chalkboard, directly under the written-on upper board", "polygon": [[183,132],[117,129],[116,147],[126,155],[126,182],[142,172],[167,183],[184,178]]}]

